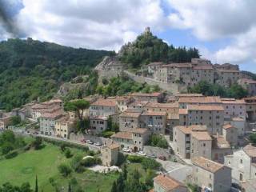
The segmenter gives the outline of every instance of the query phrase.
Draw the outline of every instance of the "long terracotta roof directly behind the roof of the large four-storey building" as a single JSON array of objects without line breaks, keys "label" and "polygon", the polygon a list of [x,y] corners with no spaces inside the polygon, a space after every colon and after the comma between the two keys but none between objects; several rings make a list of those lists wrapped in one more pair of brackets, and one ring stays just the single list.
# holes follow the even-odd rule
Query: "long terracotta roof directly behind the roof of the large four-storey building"
[{"label": "long terracotta roof directly behind the roof of the large four-storey building", "polygon": [[221,103],[222,100],[220,97],[211,96],[211,97],[182,97],[178,99],[178,102],[185,103]]}]

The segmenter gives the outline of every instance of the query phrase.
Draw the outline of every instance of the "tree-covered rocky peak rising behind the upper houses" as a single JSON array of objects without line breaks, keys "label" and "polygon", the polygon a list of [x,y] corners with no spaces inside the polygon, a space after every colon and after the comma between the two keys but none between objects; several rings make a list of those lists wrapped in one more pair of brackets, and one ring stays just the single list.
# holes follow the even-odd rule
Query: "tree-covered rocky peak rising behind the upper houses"
[{"label": "tree-covered rocky peak rising behind the upper houses", "polygon": [[169,46],[150,31],[139,35],[134,42],[122,46],[119,52],[120,60],[129,63],[132,68],[150,62],[190,62],[191,58],[199,56],[197,49]]}]

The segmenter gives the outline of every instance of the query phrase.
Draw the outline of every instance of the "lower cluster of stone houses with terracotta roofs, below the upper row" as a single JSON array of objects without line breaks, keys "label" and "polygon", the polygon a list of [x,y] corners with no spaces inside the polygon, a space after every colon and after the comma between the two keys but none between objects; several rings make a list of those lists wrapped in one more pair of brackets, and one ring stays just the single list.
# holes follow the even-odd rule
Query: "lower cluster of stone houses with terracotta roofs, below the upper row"
[{"label": "lower cluster of stone houses with terracotta roofs, below the upper row", "polygon": [[[114,165],[118,151],[143,150],[151,134],[170,135],[174,153],[193,164],[190,182],[212,191],[230,191],[231,178],[238,182],[256,179],[256,148],[240,146],[246,121],[256,121],[256,97],[234,99],[202,94],[134,93],[110,98],[85,98],[90,108],[90,134],[108,129],[108,120],[118,124],[112,143],[102,146],[102,162]],[[76,114],[63,110],[61,99],[26,106],[18,114],[39,122],[39,134],[69,138]],[[0,116],[0,129],[8,123]],[[10,120],[10,118],[9,118]],[[120,147],[121,146],[121,147]],[[154,178],[154,191],[187,191],[167,175]]]}]

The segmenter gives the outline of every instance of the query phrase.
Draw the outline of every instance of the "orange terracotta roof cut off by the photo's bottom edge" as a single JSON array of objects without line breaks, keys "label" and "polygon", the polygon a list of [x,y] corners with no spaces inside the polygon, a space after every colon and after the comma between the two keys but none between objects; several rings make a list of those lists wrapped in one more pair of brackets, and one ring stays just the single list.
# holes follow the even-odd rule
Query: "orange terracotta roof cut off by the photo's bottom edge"
[{"label": "orange terracotta roof cut off by the photo's bottom edge", "polygon": [[159,174],[154,178],[154,182],[161,186],[166,192],[170,192],[171,190],[176,189],[178,186],[184,186],[181,182],[178,182],[174,178],[170,178],[170,176]]}]

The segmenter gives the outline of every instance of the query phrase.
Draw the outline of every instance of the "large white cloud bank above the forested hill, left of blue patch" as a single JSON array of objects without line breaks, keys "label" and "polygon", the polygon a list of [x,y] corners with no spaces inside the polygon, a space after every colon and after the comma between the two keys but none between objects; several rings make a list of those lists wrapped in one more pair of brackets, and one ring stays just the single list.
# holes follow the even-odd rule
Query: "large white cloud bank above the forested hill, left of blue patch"
[{"label": "large white cloud bank above the forested hill, left of blue patch", "polygon": [[146,26],[166,25],[160,0],[24,0],[18,23],[32,38],[118,50]]}]

